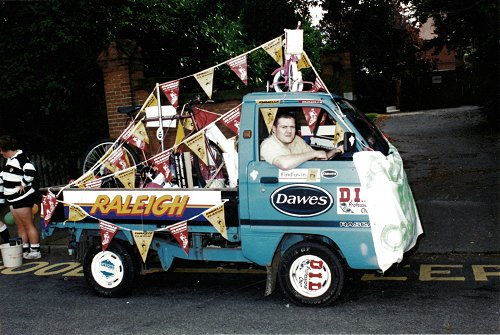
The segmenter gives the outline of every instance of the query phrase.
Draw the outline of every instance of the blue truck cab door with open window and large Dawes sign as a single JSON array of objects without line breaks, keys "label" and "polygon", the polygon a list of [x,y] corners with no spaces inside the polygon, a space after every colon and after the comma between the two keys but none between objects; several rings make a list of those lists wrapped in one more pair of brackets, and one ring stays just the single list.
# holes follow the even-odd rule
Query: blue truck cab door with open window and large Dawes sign
[{"label": "blue truck cab door with open window and large Dawes sign", "polygon": [[[297,135],[315,150],[342,145],[342,127],[321,105],[296,104],[260,107],[259,136],[269,136],[273,115],[287,110],[295,115]],[[258,146],[260,148],[260,146]],[[331,160],[307,161],[291,170],[280,170],[263,158],[248,165],[249,224],[274,232],[310,231],[319,227],[367,225],[359,179],[352,154]],[[363,222],[363,223],[361,223]],[[296,228],[294,228],[296,227]]]}]

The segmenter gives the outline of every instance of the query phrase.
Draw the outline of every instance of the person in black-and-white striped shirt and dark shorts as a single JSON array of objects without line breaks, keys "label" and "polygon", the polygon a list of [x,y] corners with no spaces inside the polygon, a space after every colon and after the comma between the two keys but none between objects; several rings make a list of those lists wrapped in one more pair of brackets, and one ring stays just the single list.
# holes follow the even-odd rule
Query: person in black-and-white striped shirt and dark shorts
[{"label": "person in black-and-white striped shirt and dark shorts", "polygon": [[33,181],[36,170],[28,156],[9,135],[0,137],[0,153],[7,159],[0,172],[0,201],[6,202],[23,240],[23,258],[39,259],[40,237],[33,223],[32,207],[36,202]]}]

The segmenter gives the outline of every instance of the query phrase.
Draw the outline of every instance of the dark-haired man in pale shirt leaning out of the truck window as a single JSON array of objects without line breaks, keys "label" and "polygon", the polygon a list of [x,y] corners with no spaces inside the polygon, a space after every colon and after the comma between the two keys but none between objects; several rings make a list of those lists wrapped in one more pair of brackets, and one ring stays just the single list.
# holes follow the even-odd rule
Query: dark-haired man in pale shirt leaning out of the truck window
[{"label": "dark-haired man in pale shirt leaning out of the truck window", "polygon": [[282,170],[293,169],[312,159],[327,160],[342,153],[342,147],[328,152],[311,148],[300,136],[296,136],[295,117],[287,111],[278,111],[271,135],[260,145],[260,159]]}]

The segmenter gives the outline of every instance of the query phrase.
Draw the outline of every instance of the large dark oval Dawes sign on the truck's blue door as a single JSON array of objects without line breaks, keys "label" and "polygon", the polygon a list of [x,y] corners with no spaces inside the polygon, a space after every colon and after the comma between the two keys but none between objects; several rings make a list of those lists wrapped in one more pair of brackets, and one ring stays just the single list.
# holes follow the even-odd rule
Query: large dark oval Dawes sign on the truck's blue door
[{"label": "large dark oval Dawes sign on the truck's blue door", "polygon": [[271,194],[271,204],[283,214],[296,217],[320,215],[333,206],[333,198],[315,185],[294,184],[278,188]]}]

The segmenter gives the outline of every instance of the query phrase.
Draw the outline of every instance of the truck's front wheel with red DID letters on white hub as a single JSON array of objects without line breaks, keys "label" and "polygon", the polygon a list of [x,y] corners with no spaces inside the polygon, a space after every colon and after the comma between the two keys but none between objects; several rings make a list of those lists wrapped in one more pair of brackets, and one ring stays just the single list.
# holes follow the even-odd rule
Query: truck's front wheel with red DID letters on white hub
[{"label": "truck's front wheel with red DID letters on white hub", "polygon": [[292,246],[279,267],[283,293],[299,305],[330,305],[340,296],[344,277],[344,267],[335,252],[315,242]]}]

